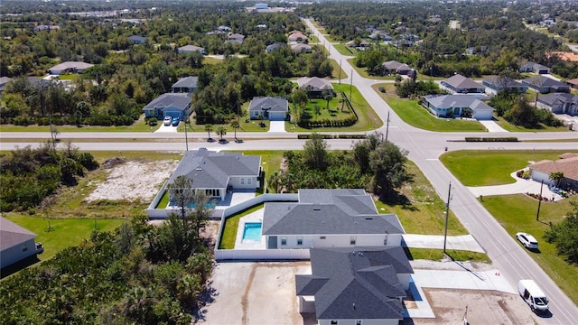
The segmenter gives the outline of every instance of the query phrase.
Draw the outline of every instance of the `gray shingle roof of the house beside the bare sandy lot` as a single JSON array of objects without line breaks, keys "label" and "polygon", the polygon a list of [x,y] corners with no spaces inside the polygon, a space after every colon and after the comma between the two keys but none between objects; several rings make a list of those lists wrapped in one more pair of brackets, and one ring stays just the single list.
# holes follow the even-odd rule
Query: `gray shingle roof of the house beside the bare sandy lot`
[{"label": "gray shingle roof of the house beside the bare sandy lot", "polygon": [[222,189],[228,186],[232,176],[258,176],[260,165],[260,156],[217,153],[200,148],[184,154],[169,183],[185,175],[192,179],[193,188]]}]

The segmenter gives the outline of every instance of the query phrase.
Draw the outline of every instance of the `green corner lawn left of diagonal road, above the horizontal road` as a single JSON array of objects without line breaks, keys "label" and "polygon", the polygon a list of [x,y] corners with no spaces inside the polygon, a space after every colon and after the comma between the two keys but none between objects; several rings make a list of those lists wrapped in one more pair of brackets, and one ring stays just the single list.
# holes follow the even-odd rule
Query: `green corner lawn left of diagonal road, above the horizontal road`
[{"label": "green corner lawn left of diagonal road, above the horizontal road", "polygon": [[[285,124],[285,129],[291,132],[331,132],[331,131],[342,131],[342,132],[356,132],[356,131],[370,131],[374,130],[383,125],[383,121],[379,118],[376,112],[373,110],[372,107],[369,106],[368,102],[363,98],[361,93],[359,93],[358,88],[350,87],[350,85],[346,84],[337,84],[333,83],[333,88],[337,93],[340,93],[341,90],[345,92],[345,95],[349,98],[351,93],[351,105],[355,109],[359,120],[355,125],[346,126],[346,127],[313,127],[309,129],[305,129],[298,125],[294,125],[290,122]],[[325,110],[325,106],[327,105],[326,102],[322,99],[321,105],[322,112],[327,112]],[[337,103],[337,99],[334,98],[334,103]],[[315,117],[315,116],[313,116]]]}]

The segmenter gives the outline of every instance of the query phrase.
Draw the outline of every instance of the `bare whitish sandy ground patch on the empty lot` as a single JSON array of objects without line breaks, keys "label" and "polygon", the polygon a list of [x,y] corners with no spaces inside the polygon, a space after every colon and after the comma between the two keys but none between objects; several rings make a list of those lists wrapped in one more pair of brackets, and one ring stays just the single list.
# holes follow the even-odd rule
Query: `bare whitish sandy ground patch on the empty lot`
[{"label": "bare whitish sandy ground patch on the empty lot", "polygon": [[99,182],[85,200],[153,200],[178,163],[173,160],[118,163],[107,170],[107,181]]}]

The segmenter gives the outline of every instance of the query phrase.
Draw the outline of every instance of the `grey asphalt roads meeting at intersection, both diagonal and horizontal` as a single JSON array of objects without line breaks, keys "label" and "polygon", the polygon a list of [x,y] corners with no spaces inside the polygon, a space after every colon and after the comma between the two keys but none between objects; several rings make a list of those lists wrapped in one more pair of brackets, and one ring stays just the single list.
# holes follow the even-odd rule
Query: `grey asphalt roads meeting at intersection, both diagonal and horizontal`
[{"label": "grey asphalt roads meeting at intersection, both diagonal and horizontal", "polygon": [[[359,73],[352,69],[348,57],[342,56],[339,51],[328,42],[317,29],[306,21],[312,32],[319,38],[330,52],[331,59],[341,62],[342,69],[352,73],[353,84],[359,88],[369,105],[373,107],[383,121],[387,120],[389,112],[389,129],[387,138],[401,148],[406,149],[408,157],[414,161],[431,181],[433,188],[443,200],[447,200],[448,187],[452,183],[452,200],[450,208],[460,218],[461,223],[476,238],[489,257],[500,270],[500,274],[514,287],[520,279],[534,279],[550,298],[550,310],[552,317],[542,318],[544,324],[578,324],[578,308],[562,292],[556,284],[542,271],[542,269],[527,255],[527,252],[517,245],[513,237],[499,225],[499,223],[484,209],[480,202],[471,192],[461,185],[450,172],[448,172],[438,157],[448,150],[461,149],[560,149],[578,151],[576,142],[558,143],[499,143],[477,144],[455,142],[461,141],[465,136],[489,136],[488,133],[433,133],[406,125],[395,112],[387,106],[381,96],[371,88],[378,81],[363,79]],[[351,77],[343,82],[350,83]],[[385,135],[386,127],[381,127],[379,132]],[[228,144],[206,142],[206,133],[189,133],[189,149],[207,147],[210,150],[301,150],[303,140],[296,139],[296,135],[287,133],[239,133],[238,137],[243,143],[230,141]],[[517,136],[520,140],[545,140],[545,139],[576,139],[578,134],[566,133],[504,133],[491,134],[491,136]],[[159,134],[159,133],[61,133],[58,138],[63,142],[70,140],[81,150],[88,151],[177,151],[185,150],[184,134]],[[50,133],[0,133],[0,150],[12,150],[15,147],[25,145],[40,145],[50,139]],[[14,141],[11,141],[13,140]],[[21,141],[26,139],[26,141]],[[90,142],[94,139],[94,142]],[[107,142],[107,139],[126,139],[126,142]],[[79,140],[79,142],[75,142]],[[150,142],[148,142],[150,140]],[[117,140],[118,141],[118,140]],[[349,149],[351,140],[332,139],[328,141],[330,149]],[[491,168],[491,166],[489,166]]]}]

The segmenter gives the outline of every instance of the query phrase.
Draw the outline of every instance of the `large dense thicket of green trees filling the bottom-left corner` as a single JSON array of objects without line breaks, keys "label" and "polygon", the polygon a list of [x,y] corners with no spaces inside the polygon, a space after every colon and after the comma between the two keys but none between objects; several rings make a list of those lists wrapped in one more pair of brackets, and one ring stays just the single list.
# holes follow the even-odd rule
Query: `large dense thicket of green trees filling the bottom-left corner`
[{"label": "large dense thicket of green trees filling the bottom-left corner", "polygon": [[0,319],[21,323],[190,324],[212,269],[208,247],[173,216],[93,233],[0,283]]}]

